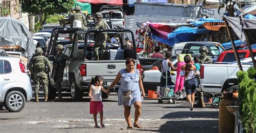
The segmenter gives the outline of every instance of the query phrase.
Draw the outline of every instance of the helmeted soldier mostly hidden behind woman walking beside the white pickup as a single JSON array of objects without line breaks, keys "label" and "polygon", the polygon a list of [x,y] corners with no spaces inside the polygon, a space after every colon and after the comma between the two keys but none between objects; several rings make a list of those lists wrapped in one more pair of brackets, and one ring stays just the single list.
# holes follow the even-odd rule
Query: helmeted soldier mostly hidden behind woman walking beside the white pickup
[{"label": "helmeted soldier mostly hidden behind woman walking beside the white pickup", "polygon": [[[207,47],[202,46],[199,48],[199,52],[200,52],[200,64],[207,64],[207,63],[211,63],[212,62],[212,58],[210,56],[207,55],[207,53],[209,53]],[[200,84],[200,82],[199,82]],[[197,92],[198,93],[198,102],[196,104],[196,106],[198,107],[205,107],[205,102],[204,102],[204,93],[203,92]]]}]

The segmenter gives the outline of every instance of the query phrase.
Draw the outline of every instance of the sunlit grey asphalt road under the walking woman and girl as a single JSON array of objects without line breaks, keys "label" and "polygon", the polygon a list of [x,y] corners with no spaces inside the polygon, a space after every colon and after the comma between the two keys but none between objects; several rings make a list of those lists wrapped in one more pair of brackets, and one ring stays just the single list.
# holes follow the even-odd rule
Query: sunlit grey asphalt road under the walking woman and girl
[{"label": "sunlit grey asphalt road under the walking woman and girl", "polygon": [[93,128],[88,97],[82,102],[71,102],[69,97],[62,102],[43,102],[41,95],[39,103],[32,99],[19,113],[0,110],[0,132],[218,132],[218,111],[210,105],[191,112],[186,101],[158,104],[157,99],[143,102],[139,120],[143,128],[127,130],[123,107],[117,105],[117,95],[112,94],[103,102],[105,128]]}]

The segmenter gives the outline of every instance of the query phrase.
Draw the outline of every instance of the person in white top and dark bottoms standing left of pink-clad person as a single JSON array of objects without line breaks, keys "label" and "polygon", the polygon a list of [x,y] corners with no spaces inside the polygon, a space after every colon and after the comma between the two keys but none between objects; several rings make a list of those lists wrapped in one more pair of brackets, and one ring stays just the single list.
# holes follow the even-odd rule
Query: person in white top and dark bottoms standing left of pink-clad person
[{"label": "person in white top and dark bottoms standing left of pink-clad person", "polygon": [[[171,69],[174,71],[177,70],[177,68],[173,67],[173,64],[171,62],[171,52],[167,51],[165,54],[165,58],[161,63],[161,79],[160,79],[160,86],[166,86],[166,78],[167,78],[167,85],[173,85],[172,79],[171,79]],[[166,77],[167,73],[167,77]]]}]

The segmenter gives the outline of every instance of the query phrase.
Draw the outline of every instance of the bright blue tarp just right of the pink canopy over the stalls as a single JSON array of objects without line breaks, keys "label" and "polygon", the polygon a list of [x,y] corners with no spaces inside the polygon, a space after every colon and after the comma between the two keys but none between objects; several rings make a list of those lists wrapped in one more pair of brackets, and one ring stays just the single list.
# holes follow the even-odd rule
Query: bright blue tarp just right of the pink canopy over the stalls
[{"label": "bright blue tarp just right of the pink canopy over the stalls", "polygon": [[200,34],[209,32],[206,28],[192,28],[181,26],[172,33],[168,34],[168,39],[171,44],[187,41],[196,41]]}]

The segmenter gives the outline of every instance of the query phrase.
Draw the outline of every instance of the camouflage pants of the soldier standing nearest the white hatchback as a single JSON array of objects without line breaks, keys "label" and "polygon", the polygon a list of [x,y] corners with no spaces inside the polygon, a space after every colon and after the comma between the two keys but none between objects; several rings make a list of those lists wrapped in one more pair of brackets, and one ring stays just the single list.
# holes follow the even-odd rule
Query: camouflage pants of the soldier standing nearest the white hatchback
[{"label": "camouflage pants of the soldier standing nearest the white hatchback", "polygon": [[44,87],[44,94],[48,94],[48,77],[46,73],[38,73],[34,76],[34,82],[35,82],[35,94],[39,93],[39,85],[40,82],[43,83]]}]

